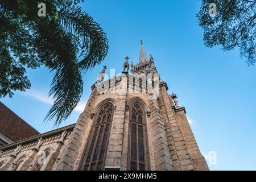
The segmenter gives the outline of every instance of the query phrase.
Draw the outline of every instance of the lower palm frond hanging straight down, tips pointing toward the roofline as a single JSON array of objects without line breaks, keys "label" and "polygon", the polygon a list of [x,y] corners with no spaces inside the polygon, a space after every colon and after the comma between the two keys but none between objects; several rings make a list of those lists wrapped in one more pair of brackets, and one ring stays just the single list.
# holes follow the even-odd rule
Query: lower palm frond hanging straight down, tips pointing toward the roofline
[{"label": "lower palm frond hanging straight down, tips pointing toward the roofline", "polygon": [[54,121],[54,126],[69,117],[82,94],[82,77],[77,63],[60,65],[53,77],[49,96],[55,98],[47,113],[46,120]]}]

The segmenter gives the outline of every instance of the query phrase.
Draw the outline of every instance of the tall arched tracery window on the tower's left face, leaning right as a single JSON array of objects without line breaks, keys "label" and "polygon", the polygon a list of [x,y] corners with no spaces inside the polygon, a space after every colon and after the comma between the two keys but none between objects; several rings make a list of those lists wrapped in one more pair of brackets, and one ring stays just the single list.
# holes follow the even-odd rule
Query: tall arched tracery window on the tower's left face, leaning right
[{"label": "tall arched tracery window on the tower's left face, leaning right", "polygon": [[113,113],[113,104],[106,103],[94,117],[94,126],[85,152],[85,171],[104,170]]}]

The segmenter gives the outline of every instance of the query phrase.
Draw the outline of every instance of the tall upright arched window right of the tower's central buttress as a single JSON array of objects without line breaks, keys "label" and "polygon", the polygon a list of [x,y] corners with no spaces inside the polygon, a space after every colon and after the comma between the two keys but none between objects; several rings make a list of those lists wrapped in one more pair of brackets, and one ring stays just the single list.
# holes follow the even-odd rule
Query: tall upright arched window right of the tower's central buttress
[{"label": "tall upright arched window right of the tower's central buttress", "polygon": [[135,102],[130,109],[129,170],[147,170],[145,111]]}]

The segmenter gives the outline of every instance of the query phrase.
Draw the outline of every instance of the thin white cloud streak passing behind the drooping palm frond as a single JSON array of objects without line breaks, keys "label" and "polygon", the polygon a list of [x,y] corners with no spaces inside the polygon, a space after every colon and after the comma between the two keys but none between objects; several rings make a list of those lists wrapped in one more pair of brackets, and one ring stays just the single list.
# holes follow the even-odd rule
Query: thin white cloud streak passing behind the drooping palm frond
[{"label": "thin white cloud streak passing behind the drooping palm frond", "polygon": [[[38,92],[37,90],[27,90],[25,92],[25,94],[27,96],[35,98],[36,100],[38,100],[40,102],[44,102],[46,104],[53,105],[52,98],[49,98],[46,93],[41,93],[41,92]],[[84,111],[85,105],[86,105],[85,101],[80,101],[79,104],[77,104],[77,106],[75,107],[74,110],[81,113],[82,111]]]}]

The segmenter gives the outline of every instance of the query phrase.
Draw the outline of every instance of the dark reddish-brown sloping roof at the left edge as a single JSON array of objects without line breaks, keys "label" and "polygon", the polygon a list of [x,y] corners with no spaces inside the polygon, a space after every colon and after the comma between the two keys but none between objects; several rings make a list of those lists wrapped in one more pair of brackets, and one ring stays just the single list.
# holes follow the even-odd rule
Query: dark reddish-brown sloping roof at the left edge
[{"label": "dark reddish-brown sloping roof at the left edge", "polygon": [[40,134],[2,102],[0,102],[0,131],[15,141]]}]

